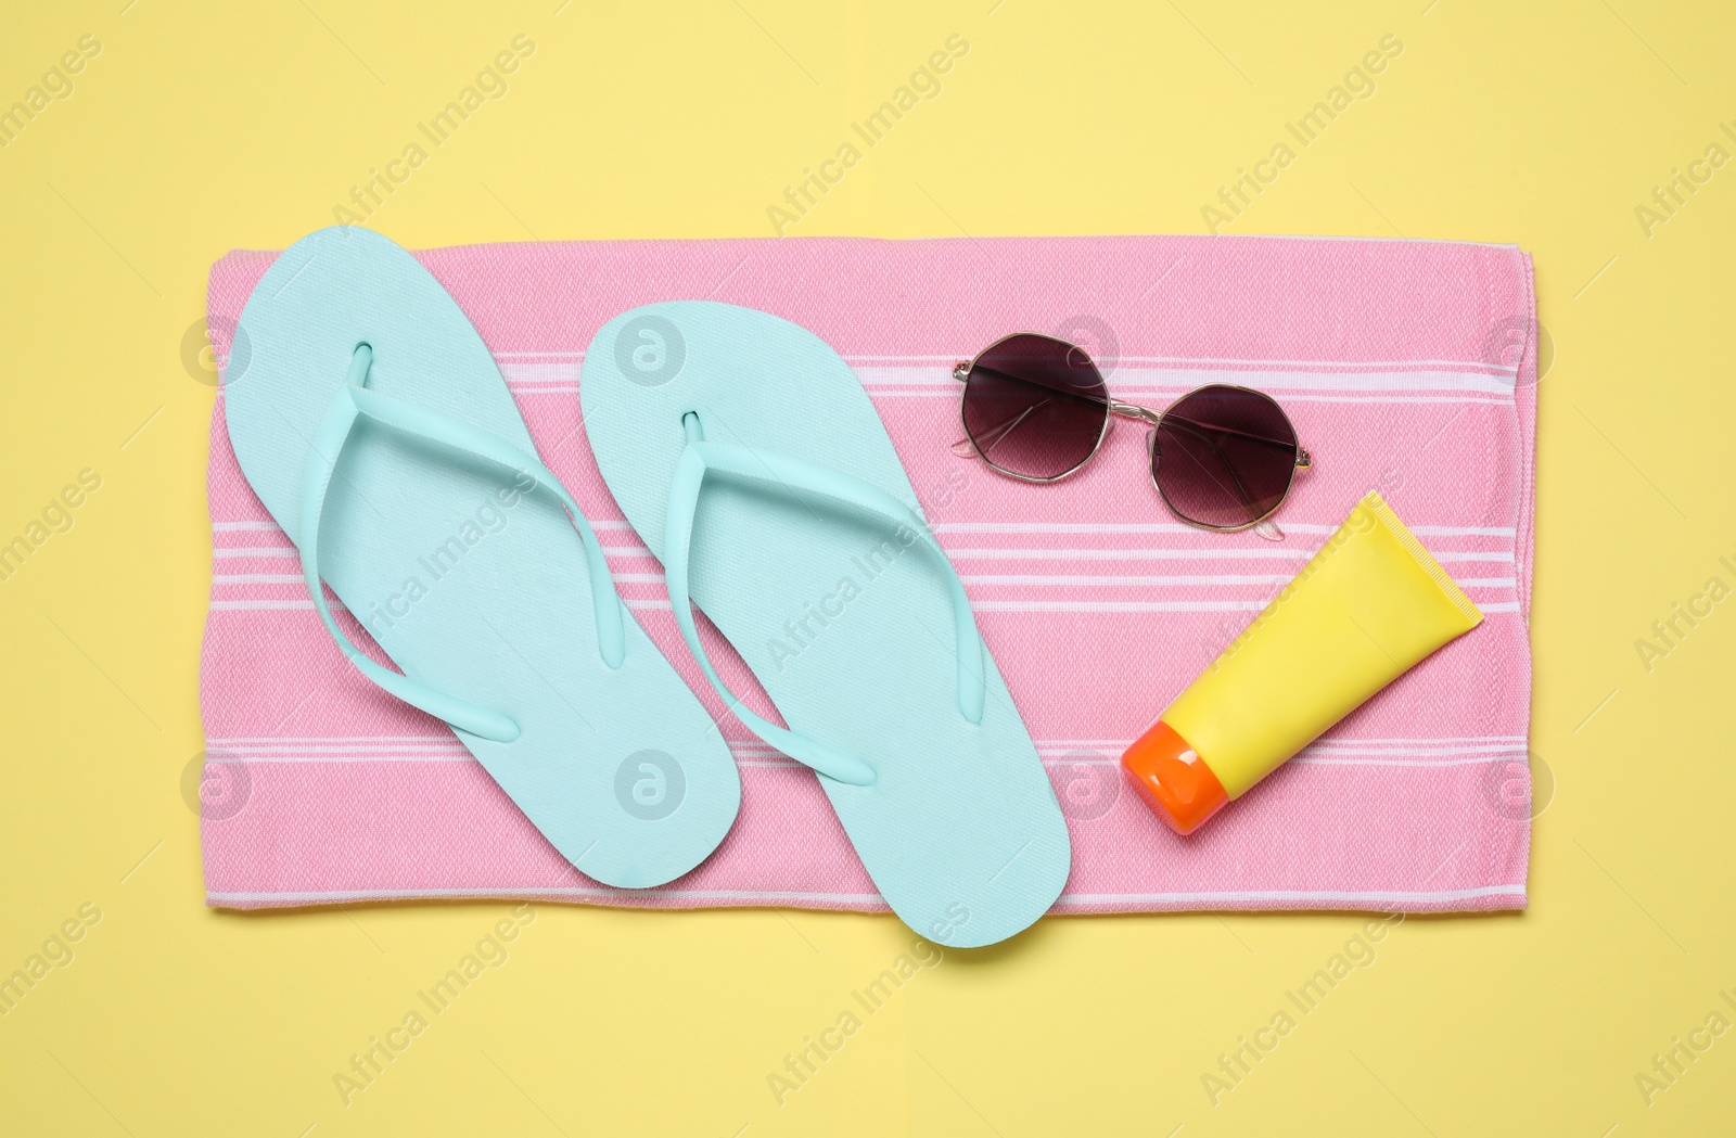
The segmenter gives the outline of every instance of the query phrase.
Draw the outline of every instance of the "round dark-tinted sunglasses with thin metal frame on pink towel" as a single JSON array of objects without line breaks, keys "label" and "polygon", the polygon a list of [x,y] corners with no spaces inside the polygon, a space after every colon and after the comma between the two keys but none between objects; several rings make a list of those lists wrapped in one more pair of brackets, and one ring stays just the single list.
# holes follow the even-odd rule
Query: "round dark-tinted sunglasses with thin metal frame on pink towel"
[{"label": "round dark-tinted sunglasses with thin metal frame on pink towel", "polygon": [[[962,458],[1026,482],[1057,482],[1097,455],[1116,416],[1151,425],[1151,482],[1189,526],[1233,533],[1260,526],[1312,460],[1271,396],[1208,383],[1156,411],[1109,396],[1078,345],[1019,331],[953,366],[963,383]],[[1281,540],[1274,526],[1262,536]]]}]

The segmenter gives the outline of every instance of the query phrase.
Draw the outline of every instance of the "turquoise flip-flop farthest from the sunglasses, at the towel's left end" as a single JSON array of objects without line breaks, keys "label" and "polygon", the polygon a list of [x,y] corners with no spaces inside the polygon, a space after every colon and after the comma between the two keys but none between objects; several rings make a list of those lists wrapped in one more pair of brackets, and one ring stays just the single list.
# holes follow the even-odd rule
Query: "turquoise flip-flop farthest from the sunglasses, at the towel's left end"
[{"label": "turquoise flip-flop farthest from the sunglasses, at the towel's left end", "polygon": [[[344,656],[450,723],[587,876],[642,888],[705,860],[741,803],[734,760],[446,290],[375,232],[321,229],[236,335],[252,361],[224,389],[229,439]],[[356,647],[321,581],[401,673]]]}]

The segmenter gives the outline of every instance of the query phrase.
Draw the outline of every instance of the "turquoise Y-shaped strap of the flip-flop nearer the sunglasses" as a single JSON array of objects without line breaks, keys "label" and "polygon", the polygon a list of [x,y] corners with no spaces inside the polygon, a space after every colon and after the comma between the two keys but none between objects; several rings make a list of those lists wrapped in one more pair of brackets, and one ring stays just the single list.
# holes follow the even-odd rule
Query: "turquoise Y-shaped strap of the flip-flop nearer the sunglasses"
[{"label": "turquoise Y-shaped strap of the flip-flop nearer the sunglasses", "polygon": [[970,614],[970,600],[965,597],[965,586],[958,579],[957,571],[953,571],[946,553],[941,552],[941,546],[934,541],[934,534],[929,533],[929,526],[910,507],[878,486],[830,467],[809,463],[790,455],[752,451],[726,442],[707,442],[698,415],[691,411],[682,416],[682,428],[687,434],[687,446],[682,449],[681,460],[675,463],[675,474],[670,479],[668,515],[663,534],[663,572],[668,579],[670,600],[674,600],[675,623],[681,626],[682,638],[687,640],[687,651],[693,652],[693,657],[705,671],[705,678],[712,682],[712,687],[729,704],[736,718],[771,746],[830,779],[851,786],[873,786],[877,779],[873,765],[866,760],[812,736],[778,727],[755,715],[729,690],[717,675],[717,670],[712,668],[712,659],[705,652],[700,631],[693,623],[693,597],[687,590],[687,562],[693,553],[693,515],[700,503],[705,475],[708,474],[759,482],[797,498],[804,491],[832,498],[844,505],[877,513],[908,529],[946,567],[946,588],[953,602],[953,631],[958,649],[958,713],[970,723],[983,722],[984,649],[976,618]]}]

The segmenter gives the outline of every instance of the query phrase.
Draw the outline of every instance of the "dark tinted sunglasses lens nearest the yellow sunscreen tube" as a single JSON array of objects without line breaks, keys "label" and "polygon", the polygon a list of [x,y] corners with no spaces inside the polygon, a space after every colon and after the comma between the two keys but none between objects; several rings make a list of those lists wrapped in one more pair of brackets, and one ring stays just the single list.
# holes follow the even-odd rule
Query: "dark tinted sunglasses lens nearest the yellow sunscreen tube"
[{"label": "dark tinted sunglasses lens nearest the yellow sunscreen tube", "polygon": [[1158,423],[1151,477],[1189,522],[1252,526],[1278,508],[1297,468],[1297,434],[1269,397],[1213,383],[1175,401]]}]

